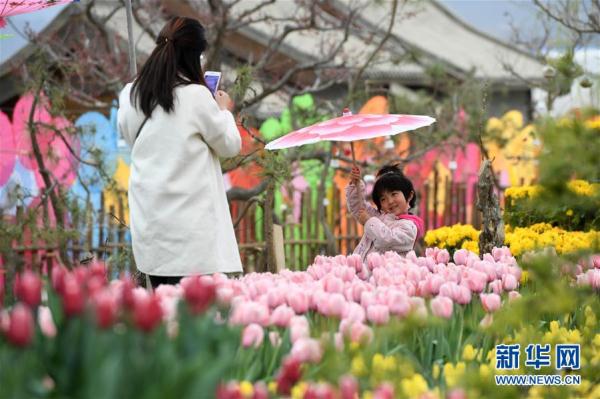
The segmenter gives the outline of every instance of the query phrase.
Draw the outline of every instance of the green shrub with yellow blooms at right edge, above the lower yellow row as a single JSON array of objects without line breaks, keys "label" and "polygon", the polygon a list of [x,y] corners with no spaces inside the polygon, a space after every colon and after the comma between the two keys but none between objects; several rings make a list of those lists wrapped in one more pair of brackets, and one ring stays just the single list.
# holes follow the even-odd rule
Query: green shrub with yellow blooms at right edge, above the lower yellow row
[{"label": "green shrub with yellow blooms at right edge, above the lower yellow row", "polygon": [[540,186],[509,187],[505,191],[504,220],[515,227],[549,223],[565,230],[588,231],[600,229],[600,185],[584,180],[567,184],[568,203],[563,206],[547,204],[547,196]]}]

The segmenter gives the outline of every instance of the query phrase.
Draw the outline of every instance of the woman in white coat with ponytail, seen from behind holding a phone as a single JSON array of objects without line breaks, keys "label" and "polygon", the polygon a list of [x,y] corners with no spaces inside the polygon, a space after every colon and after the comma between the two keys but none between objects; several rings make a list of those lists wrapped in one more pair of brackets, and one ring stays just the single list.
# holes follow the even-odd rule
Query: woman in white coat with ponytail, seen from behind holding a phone
[{"label": "woman in white coat with ponytail, seen from behind holding a phone", "polygon": [[242,271],[219,163],[241,138],[229,96],[213,98],[204,82],[206,45],[198,21],[173,18],[119,96],[119,130],[132,146],[133,255],[153,286]]}]

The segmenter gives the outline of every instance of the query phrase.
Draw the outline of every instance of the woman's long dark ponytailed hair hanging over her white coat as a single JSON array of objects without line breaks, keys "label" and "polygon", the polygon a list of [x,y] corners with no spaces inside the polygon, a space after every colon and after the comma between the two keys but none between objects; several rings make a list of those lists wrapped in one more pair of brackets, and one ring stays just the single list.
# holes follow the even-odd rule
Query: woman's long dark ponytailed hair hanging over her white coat
[{"label": "woman's long dark ponytailed hair hanging over her white coat", "polygon": [[206,50],[204,27],[192,18],[172,18],[156,38],[156,47],[138,73],[131,89],[131,102],[150,117],[160,105],[173,110],[173,89],[179,85],[202,84],[200,56]]}]

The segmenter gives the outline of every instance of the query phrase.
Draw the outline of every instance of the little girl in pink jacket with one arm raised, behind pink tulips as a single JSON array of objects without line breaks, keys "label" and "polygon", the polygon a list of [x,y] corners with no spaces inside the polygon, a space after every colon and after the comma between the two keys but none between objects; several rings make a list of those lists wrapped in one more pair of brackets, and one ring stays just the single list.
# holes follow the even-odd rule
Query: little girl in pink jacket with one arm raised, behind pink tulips
[{"label": "little girl in pink jacket with one arm raised, behind pink tulips", "polygon": [[397,165],[381,168],[372,194],[377,209],[365,201],[364,188],[360,169],[353,167],[346,202],[352,216],[365,226],[354,254],[360,255],[363,262],[371,252],[396,251],[405,255],[424,234],[421,218],[408,213],[416,201],[411,181]]}]

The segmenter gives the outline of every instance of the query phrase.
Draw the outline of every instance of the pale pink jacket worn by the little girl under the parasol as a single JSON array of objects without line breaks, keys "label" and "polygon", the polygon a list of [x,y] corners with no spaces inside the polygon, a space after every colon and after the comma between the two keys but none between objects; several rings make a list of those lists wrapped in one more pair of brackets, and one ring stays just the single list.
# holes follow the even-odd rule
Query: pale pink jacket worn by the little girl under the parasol
[{"label": "pale pink jacket worn by the little girl under the parasol", "polygon": [[365,201],[364,191],[365,185],[362,181],[358,187],[352,183],[346,186],[346,203],[352,216],[357,218],[361,208],[370,216],[365,223],[363,237],[353,253],[360,255],[363,262],[371,252],[396,251],[400,255],[406,255],[422,235],[423,222],[418,216],[404,217],[379,212]]}]

